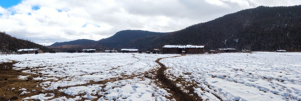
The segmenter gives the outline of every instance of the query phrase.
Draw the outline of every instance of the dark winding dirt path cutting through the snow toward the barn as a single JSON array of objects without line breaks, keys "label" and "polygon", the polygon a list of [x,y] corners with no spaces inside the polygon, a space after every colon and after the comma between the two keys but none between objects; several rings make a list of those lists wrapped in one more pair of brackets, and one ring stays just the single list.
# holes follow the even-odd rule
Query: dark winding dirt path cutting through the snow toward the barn
[{"label": "dark winding dirt path cutting through the snow toward the barn", "polygon": [[[175,56],[175,57],[180,57],[180,56]],[[172,57],[167,57],[167,58],[172,58]],[[193,93],[194,89],[191,86],[187,87],[189,92],[185,93],[181,90],[180,87],[177,87],[175,85],[176,81],[171,81],[168,78],[166,78],[164,71],[167,68],[162,63],[159,62],[161,59],[164,58],[159,58],[156,60],[156,63],[158,63],[161,66],[160,69],[157,70],[156,78],[161,82],[162,87],[170,89],[170,91],[168,92],[171,93],[177,101],[202,101],[202,99],[199,96],[197,96],[196,93]],[[191,96],[191,94],[193,96]]]}]

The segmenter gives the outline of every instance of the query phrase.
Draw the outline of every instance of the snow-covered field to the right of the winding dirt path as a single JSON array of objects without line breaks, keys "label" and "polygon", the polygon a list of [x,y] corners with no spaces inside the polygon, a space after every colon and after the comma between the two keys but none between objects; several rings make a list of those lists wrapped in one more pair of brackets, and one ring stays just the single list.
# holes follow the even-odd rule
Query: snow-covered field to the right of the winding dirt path
[{"label": "snow-covered field to the right of the winding dirt path", "polygon": [[301,53],[202,54],[160,62],[169,67],[169,79],[197,84],[194,92],[202,99],[301,100]]}]

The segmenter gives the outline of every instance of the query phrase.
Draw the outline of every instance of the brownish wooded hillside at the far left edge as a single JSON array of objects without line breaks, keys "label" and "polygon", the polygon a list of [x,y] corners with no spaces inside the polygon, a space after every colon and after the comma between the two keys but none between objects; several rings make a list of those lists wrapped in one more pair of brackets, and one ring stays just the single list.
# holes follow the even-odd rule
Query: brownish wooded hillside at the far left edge
[{"label": "brownish wooded hillside at the far left edge", "polygon": [[41,48],[44,51],[49,51],[49,48],[45,46],[12,37],[5,32],[0,32],[0,39],[0,52],[12,52],[22,48]]}]

